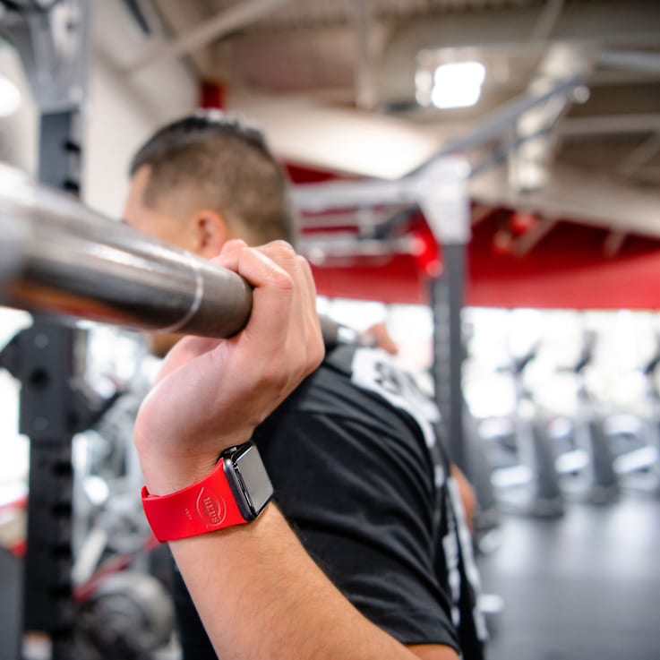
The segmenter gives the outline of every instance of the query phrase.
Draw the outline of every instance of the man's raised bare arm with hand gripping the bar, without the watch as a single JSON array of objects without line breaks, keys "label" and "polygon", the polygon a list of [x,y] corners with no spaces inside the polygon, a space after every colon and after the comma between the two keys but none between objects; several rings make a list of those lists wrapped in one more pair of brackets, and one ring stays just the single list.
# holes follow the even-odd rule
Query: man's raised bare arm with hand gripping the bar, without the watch
[{"label": "man's raised bare arm with hand gripping the bar, without the watch", "polygon": [[[219,265],[254,287],[246,328],[184,339],[141,408],[135,442],[152,494],[192,484],[319,364],[309,267],[290,248],[227,244]],[[340,595],[270,504],[248,525],[171,544],[218,655],[227,658],[457,660],[448,647],[399,644]]]}]

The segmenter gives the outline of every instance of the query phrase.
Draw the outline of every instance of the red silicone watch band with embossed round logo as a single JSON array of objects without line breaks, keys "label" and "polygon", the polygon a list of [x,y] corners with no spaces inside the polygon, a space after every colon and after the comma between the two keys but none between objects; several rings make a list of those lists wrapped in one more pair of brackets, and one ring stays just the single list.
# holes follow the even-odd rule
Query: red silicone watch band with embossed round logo
[{"label": "red silicone watch band with embossed round logo", "polygon": [[154,536],[163,543],[243,525],[247,520],[225,475],[224,459],[210,474],[176,493],[151,495],[142,488],[142,507]]}]

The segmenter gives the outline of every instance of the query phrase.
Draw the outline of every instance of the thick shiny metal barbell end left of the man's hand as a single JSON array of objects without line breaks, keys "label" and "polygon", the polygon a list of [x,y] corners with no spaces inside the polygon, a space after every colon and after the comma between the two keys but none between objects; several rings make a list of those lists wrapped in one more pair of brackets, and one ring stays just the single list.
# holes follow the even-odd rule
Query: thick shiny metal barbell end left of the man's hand
[{"label": "thick shiny metal barbell end left of the man's hand", "polygon": [[252,310],[243,278],[0,165],[0,304],[226,338]]}]

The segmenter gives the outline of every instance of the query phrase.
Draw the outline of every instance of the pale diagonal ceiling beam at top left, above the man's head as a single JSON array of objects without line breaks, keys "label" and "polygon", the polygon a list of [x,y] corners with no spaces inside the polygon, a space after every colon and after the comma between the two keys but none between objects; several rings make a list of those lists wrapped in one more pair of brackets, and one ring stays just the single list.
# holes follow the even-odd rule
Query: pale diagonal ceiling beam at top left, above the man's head
[{"label": "pale diagonal ceiling beam at top left, above the man's head", "polygon": [[184,31],[175,39],[148,49],[130,67],[127,67],[127,73],[138,73],[168,59],[187,55],[230,32],[259,21],[287,2],[290,0],[252,0],[249,3],[235,4],[226,11],[202,21],[194,28]]}]

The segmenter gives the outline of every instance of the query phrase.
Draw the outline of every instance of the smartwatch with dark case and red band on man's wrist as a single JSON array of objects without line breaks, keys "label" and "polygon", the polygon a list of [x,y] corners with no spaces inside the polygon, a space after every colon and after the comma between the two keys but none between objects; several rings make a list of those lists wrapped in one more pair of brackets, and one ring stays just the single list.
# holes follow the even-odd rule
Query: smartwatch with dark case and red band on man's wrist
[{"label": "smartwatch with dark case and red band on man's wrist", "polygon": [[273,487],[249,441],[223,451],[210,474],[176,493],[151,495],[144,486],[141,494],[151,530],[163,543],[250,522],[270,501]]}]

